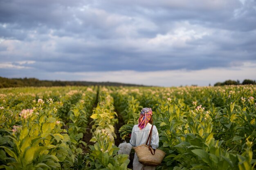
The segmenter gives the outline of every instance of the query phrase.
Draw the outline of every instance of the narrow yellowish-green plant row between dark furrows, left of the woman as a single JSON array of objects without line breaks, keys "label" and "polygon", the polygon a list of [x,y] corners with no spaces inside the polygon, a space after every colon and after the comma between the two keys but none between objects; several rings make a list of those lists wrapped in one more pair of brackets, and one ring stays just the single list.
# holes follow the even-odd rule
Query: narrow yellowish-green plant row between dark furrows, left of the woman
[{"label": "narrow yellowish-green plant row between dark furrows, left of the woman", "polygon": [[93,125],[93,136],[90,140],[94,142],[89,153],[85,156],[85,169],[94,170],[127,170],[129,163],[128,155],[117,155],[119,148],[115,146],[116,137],[114,124],[117,123],[114,100],[107,88],[99,90],[97,107],[91,116]]}]

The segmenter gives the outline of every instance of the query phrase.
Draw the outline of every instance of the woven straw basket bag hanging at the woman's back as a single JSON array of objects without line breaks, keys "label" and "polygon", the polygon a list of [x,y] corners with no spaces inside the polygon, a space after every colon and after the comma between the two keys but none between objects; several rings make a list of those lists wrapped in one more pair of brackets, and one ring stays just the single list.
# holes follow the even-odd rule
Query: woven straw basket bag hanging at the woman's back
[{"label": "woven straw basket bag hanging at the woman's back", "polygon": [[[152,155],[150,149],[146,144],[134,147],[139,162],[148,166],[158,166],[164,159],[165,153],[160,149],[155,150],[155,155]],[[153,150],[151,148],[151,150]]]}]

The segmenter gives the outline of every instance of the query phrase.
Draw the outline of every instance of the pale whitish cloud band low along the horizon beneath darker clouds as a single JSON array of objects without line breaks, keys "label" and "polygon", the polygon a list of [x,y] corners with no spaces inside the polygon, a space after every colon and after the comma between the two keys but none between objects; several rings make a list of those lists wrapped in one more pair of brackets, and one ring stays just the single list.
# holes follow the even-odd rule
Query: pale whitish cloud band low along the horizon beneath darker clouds
[{"label": "pale whitish cloud band low along the horizon beneath darker clouds", "polygon": [[[0,68],[0,72],[4,72]],[[163,70],[138,72],[134,70],[119,70],[108,72],[40,72],[38,70],[26,69],[23,74],[18,70],[8,72],[11,77],[33,77],[36,72],[37,78],[42,80],[79,80],[79,81],[111,81],[121,83],[135,83],[155,86],[180,86],[180,85],[214,85],[216,82],[223,82],[228,79],[239,80],[255,79],[256,62],[241,63],[230,68],[207,68],[202,70]],[[9,77],[9,76],[8,76]],[[46,78],[45,78],[46,77]]]}]

